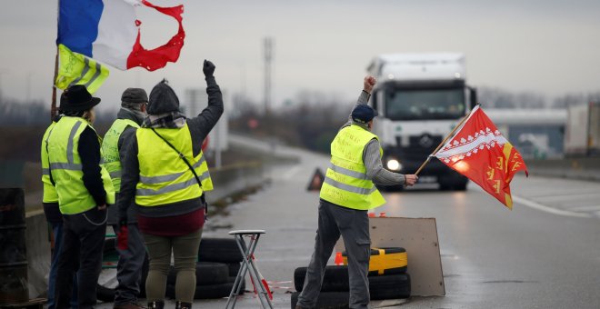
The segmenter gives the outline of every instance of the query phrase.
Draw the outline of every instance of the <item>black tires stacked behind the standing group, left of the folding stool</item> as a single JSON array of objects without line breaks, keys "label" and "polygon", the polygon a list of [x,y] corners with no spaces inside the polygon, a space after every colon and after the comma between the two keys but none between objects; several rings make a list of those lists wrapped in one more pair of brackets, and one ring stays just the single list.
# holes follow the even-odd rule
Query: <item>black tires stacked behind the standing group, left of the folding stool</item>
[{"label": "black tires stacked behind the standing group, left of the folding stool", "polygon": [[[104,283],[97,285],[97,298],[103,302],[113,302],[116,288],[115,238],[105,240],[105,260],[111,267],[103,266]],[[198,262],[195,265],[195,299],[211,299],[229,296],[234,287],[235,276],[240,270],[243,257],[233,238],[203,238],[198,250]],[[106,264],[106,263],[104,263]],[[148,261],[145,259],[140,280],[140,298],[145,297],[145,280],[148,275]],[[175,299],[176,270],[173,265],[166,279],[166,297]],[[245,293],[245,280],[242,281],[240,294]]]}]

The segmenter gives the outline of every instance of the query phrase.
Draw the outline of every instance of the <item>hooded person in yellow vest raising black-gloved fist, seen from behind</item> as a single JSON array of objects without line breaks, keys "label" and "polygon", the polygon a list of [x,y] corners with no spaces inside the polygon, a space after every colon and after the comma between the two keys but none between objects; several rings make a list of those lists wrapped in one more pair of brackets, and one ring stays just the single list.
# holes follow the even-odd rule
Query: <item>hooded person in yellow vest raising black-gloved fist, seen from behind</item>
[{"label": "hooded person in yellow vest raising black-gloved fist, seen from behind", "polygon": [[149,308],[165,306],[166,275],[175,259],[175,308],[191,308],[195,263],[205,223],[205,191],[213,189],[202,142],[223,114],[223,98],[215,81],[215,65],[205,60],[208,106],[191,119],[179,112],[179,99],[165,81],[150,92],[148,117],[127,138],[121,162],[120,224],[134,203],[137,224],[150,259],[145,284]]}]

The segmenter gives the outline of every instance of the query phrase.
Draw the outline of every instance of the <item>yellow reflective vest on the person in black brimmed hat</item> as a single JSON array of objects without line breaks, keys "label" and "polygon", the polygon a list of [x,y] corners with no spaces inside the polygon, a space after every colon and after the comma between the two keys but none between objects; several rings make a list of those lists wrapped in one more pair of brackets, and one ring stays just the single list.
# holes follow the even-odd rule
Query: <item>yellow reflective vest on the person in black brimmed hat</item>
[{"label": "yellow reflective vest on the person in black brimmed hat", "polygon": [[[63,214],[80,214],[96,206],[94,198],[85,188],[81,157],[77,150],[79,137],[88,125],[83,118],[63,116],[47,138],[50,173],[55,181],[58,205]],[[115,204],[113,183],[102,165],[100,173],[106,204]]]}]

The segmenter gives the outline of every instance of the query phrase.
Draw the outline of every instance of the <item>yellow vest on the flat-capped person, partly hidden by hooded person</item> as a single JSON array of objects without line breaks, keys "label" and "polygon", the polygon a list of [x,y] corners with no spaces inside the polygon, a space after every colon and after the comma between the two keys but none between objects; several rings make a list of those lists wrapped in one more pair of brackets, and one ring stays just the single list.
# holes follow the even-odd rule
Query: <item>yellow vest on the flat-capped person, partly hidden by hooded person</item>
[{"label": "yellow vest on the flat-capped person, partly hidden by hooded person", "polygon": [[133,120],[129,119],[116,119],[113,125],[108,129],[105,134],[105,139],[102,141],[102,159],[105,165],[106,171],[110,175],[115,187],[115,192],[121,191],[121,160],[119,158],[119,138],[127,128],[127,125],[131,125],[135,128],[140,126]]}]

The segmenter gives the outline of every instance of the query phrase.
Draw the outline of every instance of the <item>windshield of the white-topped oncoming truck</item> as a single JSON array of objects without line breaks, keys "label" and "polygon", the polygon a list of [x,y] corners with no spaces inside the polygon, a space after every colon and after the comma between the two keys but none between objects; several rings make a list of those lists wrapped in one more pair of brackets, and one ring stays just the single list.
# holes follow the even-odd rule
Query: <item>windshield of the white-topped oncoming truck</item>
[{"label": "windshield of the white-topped oncoming truck", "polygon": [[391,120],[457,119],[465,115],[464,88],[389,89],[385,117]]}]

